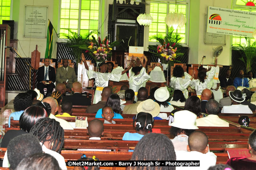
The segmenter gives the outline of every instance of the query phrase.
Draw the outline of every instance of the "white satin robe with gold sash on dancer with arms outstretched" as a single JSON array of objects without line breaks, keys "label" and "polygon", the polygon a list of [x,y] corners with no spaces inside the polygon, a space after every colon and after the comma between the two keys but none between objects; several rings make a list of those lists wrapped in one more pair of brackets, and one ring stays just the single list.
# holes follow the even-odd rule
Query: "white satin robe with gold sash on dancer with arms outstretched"
[{"label": "white satin robe with gold sash on dancer with arms outstretched", "polygon": [[[100,72],[95,72],[89,68],[89,70],[86,69],[86,73],[89,77],[89,79],[95,78],[95,84],[97,87],[107,87],[109,85],[109,80],[111,81],[120,81],[121,74],[122,72],[119,73],[100,73]],[[98,103],[101,101],[101,93],[102,89],[98,90],[96,88],[95,94],[94,94],[94,99],[93,99],[93,104]]]}]

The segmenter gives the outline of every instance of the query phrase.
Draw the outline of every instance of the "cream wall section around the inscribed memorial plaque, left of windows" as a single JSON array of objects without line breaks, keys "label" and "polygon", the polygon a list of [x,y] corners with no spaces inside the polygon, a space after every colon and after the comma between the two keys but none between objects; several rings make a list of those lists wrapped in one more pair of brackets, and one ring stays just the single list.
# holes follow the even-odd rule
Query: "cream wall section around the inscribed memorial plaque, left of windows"
[{"label": "cream wall section around the inscribed memorial plaque, left of windows", "polygon": [[[15,5],[15,2],[13,3]],[[46,50],[46,38],[24,38],[23,37],[23,27],[24,27],[24,11],[25,5],[34,5],[34,6],[48,6],[48,18],[53,20],[53,0],[20,0],[19,6],[19,18],[15,20],[15,28],[14,28],[14,39],[18,39],[20,44],[18,43],[18,53],[23,57],[31,58],[31,52],[36,49],[36,45],[38,45],[38,51],[41,53],[40,58],[45,57]],[[55,8],[56,9],[56,8]],[[53,22],[53,21],[52,21]],[[48,25],[48,21],[47,21]],[[57,28],[55,28],[57,29]],[[56,48],[57,44],[55,43],[55,33],[53,34],[53,48],[55,47],[54,52],[52,54],[52,58],[56,58]],[[24,51],[24,52],[23,52]]]}]

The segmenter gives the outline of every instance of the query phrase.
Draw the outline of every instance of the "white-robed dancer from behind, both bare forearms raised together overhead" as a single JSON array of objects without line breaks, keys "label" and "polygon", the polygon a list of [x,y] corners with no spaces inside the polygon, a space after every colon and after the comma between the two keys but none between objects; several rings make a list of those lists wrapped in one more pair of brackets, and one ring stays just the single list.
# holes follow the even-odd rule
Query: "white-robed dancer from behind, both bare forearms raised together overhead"
[{"label": "white-robed dancer from behind, both bare forearms raised together overhead", "polygon": [[[145,61],[143,62],[143,60]],[[147,64],[147,58],[145,55],[143,55],[143,58],[141,59],[141,65],[143,66],[140,70],[140,67],[133,67],[132,76],[129,78],[129,89],[132,89],[135,93],[134,101],[137,102],[137,94],[138,90],[141,87],[146,87],[146,82],[150,79],[150,76],[146,73],[146,64]]]}]

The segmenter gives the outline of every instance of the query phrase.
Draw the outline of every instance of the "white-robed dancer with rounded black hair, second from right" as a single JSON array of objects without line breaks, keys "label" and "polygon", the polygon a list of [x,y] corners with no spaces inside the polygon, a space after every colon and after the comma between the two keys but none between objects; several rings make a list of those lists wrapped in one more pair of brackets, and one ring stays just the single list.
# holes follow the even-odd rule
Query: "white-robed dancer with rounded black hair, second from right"
[{"label": "white-robed dancer with rounded black hair, second from right", "polygon": [[[182,78],[185,75],[185,78]],[[170,81],[170,86],[174,88],[174,90],[181,90],[184,94],[184,97],[188,98],[188,86],[191,83],[195,75],[195,71],[193,71],[192,76],[187,72],[184,72],[183,68],[179,65],[175,66],[173,69],[173,76]]]}]

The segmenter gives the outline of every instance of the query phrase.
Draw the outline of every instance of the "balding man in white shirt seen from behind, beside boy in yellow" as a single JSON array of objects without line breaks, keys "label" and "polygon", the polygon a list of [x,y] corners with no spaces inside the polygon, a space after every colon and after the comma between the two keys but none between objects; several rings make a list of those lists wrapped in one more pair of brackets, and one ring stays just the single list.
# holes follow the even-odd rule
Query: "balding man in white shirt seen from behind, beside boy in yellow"
[{"label": "balding man in white shirt seen from behind, beside boy in yellow", "polygon": [[66,120],[55,117],[55,114],[59,109],[59,105],[56,99],[54,99],[53,97],[46,97],[42,100],[42,102],[49,103],[52,108],[51,113],[48,116],[49,118],[55,119],[57,122],[60,122],[60,126],[64,130],[73,130],[72,126]]}]

